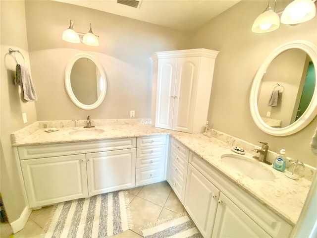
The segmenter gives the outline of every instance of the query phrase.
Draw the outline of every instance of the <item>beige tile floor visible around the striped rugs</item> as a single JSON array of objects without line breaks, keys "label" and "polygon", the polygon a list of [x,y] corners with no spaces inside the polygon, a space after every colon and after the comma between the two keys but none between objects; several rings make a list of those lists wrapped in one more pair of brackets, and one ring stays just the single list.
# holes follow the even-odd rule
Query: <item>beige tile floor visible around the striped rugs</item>
[{"label": "beige tile floor visible around the striped rugs", "polygon": [[[157,221],[171,219],[186,213],[183,205],[176,197],[169,184],[164,182],[128,189],[130,211],[134,228],[114,236],[114,238],[141,238],[139,228],[149,224],[155,225]],[[53,206],[35,210],[20,232],[11,235],[12,230],[8,224],[1,224],[1,238],[37,238],[45,231],[47,222],[52,213]]]}]

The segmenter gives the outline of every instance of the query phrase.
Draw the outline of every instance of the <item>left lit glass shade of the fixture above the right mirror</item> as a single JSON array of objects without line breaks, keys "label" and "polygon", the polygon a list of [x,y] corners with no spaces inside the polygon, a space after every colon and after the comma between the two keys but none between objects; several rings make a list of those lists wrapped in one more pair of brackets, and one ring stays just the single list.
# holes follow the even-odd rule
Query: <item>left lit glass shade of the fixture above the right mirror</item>
[{"label": "left lit glass shade of the fixture above the right mirror", "polygon": [[255,33],[264,33],[274,31],[279,27],[279,17],[276,12],[269,10],[264,11],[257,17],[252,26]]}]

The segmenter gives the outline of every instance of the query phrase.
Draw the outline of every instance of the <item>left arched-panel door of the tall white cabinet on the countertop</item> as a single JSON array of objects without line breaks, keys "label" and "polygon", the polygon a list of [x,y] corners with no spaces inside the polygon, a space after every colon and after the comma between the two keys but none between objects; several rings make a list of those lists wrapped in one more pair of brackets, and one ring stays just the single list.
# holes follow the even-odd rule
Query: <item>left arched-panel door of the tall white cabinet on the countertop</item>
[{"label": "left arched-panel door of the tall white cabinet on the countertop", "polygon": [[155,126],[172,129],[177,59],[160,59],[158,65]]}]

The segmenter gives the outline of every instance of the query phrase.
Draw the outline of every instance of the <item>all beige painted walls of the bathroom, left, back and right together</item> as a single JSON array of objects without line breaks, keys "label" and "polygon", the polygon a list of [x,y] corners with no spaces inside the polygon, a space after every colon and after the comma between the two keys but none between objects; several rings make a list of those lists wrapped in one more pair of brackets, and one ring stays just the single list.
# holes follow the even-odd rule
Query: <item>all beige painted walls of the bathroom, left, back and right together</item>
[{"label": "all beige painted walls of the bathroom, left, back and right together", "polygon": [[[285,5],[287,1],[277,3],[280,10],[283,7],[279,4]],[[292,40],[317,44],[316,18],[297,26],[281,25],[271,33],[253,33],[252,23],[266,4],[266,0],[241,1],[198,31],[183,33],[60,2],[26,1],[24,9],[24,1],[1,0],[0,189],[10,221],[16,220],[25,206],[9,138],[11,132],[27,125],[23,124],[21,114],[26,112],[29,122],[85,119],[88,114],[92,119],[121,119],[128,118],[130,110],[136,111],[136,118],[150,118],[150,56],[157,51],[190,48],[219,51],[209,110],[212,127],[254,144],[266,141],[275,152],[285,148],[288,156],[316,166],[309,146],[317,127],[316,119],[294,135],[275,137],[258,129],[251,118],[250,88],[266,56]],[[68,27],[69,19],[79,32],[87,31],[91,22],[93,31],[100,35],[100,47],[62,41],[61,34]],[[5,56],[9,47],[20,49],[31,65],[39,98],[36,103],[21,103],[18,87],[11,84],[15,63]],[[104,103],[91,111],[73,105],[63,81],[66,63],[83,51],[101,61],[108,82]],[[8,66],[3,64],[4,57]]]}]

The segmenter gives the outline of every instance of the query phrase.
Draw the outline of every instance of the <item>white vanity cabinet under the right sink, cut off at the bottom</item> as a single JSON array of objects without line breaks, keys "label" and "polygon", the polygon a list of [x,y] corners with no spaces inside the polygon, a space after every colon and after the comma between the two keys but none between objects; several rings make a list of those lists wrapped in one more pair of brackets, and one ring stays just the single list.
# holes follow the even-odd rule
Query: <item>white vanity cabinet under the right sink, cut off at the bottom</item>
[{"label": "white vanity cabinet under the right sink, cut off at the bottom", "polygon": [[[204,237],[289,237],[291,225],[212,169],[204,159],[190,152],[189,163],[185,209]],[[220,194],[214,209],[213,195],[218,194],[217,190]],[[192,195],[195,192],[199,194]],[[205,223],[213,225],[212,233]]]}]

